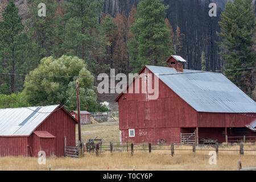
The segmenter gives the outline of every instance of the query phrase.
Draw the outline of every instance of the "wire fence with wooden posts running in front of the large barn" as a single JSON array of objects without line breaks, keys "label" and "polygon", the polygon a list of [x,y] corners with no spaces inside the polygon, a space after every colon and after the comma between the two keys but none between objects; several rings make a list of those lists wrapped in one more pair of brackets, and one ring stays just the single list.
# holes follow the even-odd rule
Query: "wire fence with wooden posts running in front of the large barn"
[{"label": "wire fence with wooden posts running in front of the large barn", "polygon": [[[175,151],[191,151],[195,153],[196,151],[216,151],[218,152],[237,152],[236,154],[243,155],[245,152],[250,152],[250,155],[256,156],[256,144],[255,142],[247,143],[222,143],[222,144],[183,144],[165,142],[160,143],[159,140],[146,141],[146,142],[104,142],[100,145],[96,144],[94,151],[96,155],[103,154],[106,151],[110,152],[131,152],[134,155],[135,151],[146,151],[149,154],[152,151],[169,151],[168,155],[174,155]],[[249,154],[249,153],[248,153]],[[161,154],[167,155],[167,154]]]}]

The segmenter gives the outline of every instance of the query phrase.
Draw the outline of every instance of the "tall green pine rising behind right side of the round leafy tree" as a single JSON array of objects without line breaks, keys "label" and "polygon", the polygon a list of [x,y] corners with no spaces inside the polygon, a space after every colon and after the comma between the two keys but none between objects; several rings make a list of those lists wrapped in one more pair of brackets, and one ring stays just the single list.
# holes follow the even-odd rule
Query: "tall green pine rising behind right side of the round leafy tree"
[{"label": "tall green pine rising behind right side of the round leafy tree", "polygon": [[101,34],[99,23],[103,1],[70,0],[66,10],[63,48],[67,55],[85,60],[89,70],[96,75],[99,69],[106,66],[101,64],[105,56],[106,39]]}]

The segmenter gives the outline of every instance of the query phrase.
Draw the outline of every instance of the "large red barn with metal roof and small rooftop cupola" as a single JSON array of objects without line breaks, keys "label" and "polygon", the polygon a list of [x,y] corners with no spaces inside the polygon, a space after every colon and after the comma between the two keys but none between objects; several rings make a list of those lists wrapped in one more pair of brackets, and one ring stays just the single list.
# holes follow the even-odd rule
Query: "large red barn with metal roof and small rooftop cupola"
[{"label": "large red barn with metal roof and small rooftop cupola", "polygon": [[[181,135],[194,131],[197,143],[200,138],[225,142],[226,135],[256,139],[256,104],[233,82],[221,73],[183,69],[185,60],[180,56],[170,56],[167,62],[168,67],[146,65],[127,92],[116,98],[122,142],[179,143]],[[148,73],[159,78],[159,96],[154,100],[148,99],[152,95]],[[139,93],[135,93],[137,81]]]}]

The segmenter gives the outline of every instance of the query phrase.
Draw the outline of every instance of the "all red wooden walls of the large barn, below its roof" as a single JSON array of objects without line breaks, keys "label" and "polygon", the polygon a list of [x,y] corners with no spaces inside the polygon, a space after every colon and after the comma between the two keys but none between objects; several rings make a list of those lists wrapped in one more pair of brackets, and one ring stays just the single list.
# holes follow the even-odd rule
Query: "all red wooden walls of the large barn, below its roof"
[{"label": "all red wooden walls of the large barn, below its roof", "polygon": [[[152,72],[145,67],[140,73]],[[119,130],[122,142],[152,141],[162,138],[179,142],[180,133],[193,133],[196,127],[199,127],[199,137],[209,137],[224,142],[225,127],[245,127],[256,117],[255,113],[245,115],[197,112],[161,80],[159,80],[158,99],[148,100],[148,94],[142,93],[145,89],[142,87],[147,84],[146,77],[141,76],[137,79],[139,93],[135,93],[135,80],[133,85],[130,85],[133,86],[133,93],[129,93],[128,87],[127,93],[119,95],[116,100],[119,105]],[[129,137],[129,129],[135,129],[135,137]],[[256,135],[247,130],[250,135]],[[228,135],[232,134],[228,133]]]}]

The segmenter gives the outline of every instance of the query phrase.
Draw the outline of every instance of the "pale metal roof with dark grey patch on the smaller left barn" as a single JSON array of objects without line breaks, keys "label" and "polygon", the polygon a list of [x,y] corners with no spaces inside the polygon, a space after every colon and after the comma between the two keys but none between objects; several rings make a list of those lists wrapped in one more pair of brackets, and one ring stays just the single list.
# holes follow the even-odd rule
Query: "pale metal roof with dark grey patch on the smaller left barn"
[{"label": "pale metal roof with dark grey patch on the smaller left barn", "polygon": [[0,109],[0,136],[30,135],[58,106]]}]

